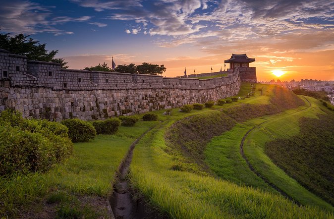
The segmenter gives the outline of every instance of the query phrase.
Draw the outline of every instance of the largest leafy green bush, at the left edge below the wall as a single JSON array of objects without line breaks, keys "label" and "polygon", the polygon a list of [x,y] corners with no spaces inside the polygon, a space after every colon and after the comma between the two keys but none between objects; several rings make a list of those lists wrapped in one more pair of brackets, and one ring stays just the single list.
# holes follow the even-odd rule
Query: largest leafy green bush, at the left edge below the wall
[{"label": "largest leafy green bush, at the left edge below the wall", "polygon": [[24,119],[19,112],[0,115],[0,175],[47,171],[73,151],[66,126]]}]

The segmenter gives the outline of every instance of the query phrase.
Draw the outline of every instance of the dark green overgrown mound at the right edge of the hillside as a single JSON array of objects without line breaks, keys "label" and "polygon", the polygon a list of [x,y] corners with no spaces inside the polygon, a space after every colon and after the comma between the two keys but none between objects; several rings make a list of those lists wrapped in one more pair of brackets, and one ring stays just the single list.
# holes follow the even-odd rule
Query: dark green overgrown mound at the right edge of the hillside
[{"label": "dark green overgrown mound at the right edge of the hillside", "polygon": [[299,119],[300,133],[267,142],[265,153],[288,175],[334,205],[334,116]]}]

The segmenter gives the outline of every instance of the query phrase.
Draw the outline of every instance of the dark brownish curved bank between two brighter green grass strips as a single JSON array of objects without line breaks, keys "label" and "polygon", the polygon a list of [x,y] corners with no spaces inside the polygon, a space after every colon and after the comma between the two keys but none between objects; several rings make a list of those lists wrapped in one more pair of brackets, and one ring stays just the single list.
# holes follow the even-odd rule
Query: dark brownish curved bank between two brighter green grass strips
[{"label": "dark brownish curved bank between two brighter green grass strips", "polygon": [[[167,131],[165,138],[167,145],[172,149],[167,151],[170,154],[175,154],[175,151],[179,152],[186,159],[186,164],[180,162],[173,168],[193,172],[204,170],[210,173],[210,169],[204,162],[204,151],[207,143],[214,136],[230,130],[237,122],[266,114],[274,114],[305,104],[298,96],[284,88],[271,86],[270,89],[269,95],[272,104],[240,104],[225,108],[222,111],[211,110],[198,113],[173,124]],[[189,163],[192,163],[192,165]],[[199,168],[196,168],[196,166]]]}]

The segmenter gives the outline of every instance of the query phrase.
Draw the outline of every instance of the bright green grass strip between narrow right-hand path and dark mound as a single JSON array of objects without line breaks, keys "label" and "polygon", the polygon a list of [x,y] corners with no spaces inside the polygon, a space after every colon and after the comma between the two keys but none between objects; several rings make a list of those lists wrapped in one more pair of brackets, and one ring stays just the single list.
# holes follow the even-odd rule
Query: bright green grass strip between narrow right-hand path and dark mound
[{"label": "bright green grass strip between narrow right-hand path and dark mound", "polygon": [[[293,178],[289,177],[283,170],[278,168],[264,153],[266,142],[270,142],[276,138],[289,138],[297,135],[299,133],[299,118],[303,116],[314,118],[317,113],[324,113],[320,110],[319,107],[321,106],[318,105],[317,100],[309,97],[306,98],[311,103],[310,108],[301,111],[290,110],[283,113],[281,116],[266,117],[268,122],[249,133],[244,144],[244,152],[250,163],[258,172],[295,200],[302,204],[318,205],[322,208],[334,211],[331,205],[299,185]],[[248,121],[247,125],[251,128],[257,122],[259,122],[258,119],[254,119]],[[244,130],[244,133],[249,129]]]}]

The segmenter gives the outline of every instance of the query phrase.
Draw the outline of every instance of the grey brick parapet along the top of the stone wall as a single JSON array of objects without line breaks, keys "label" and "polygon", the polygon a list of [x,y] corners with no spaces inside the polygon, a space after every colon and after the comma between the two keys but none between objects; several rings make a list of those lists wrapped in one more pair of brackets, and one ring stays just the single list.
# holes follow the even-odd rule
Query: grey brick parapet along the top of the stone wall
[{"label": "grey brick parapet along the top of the stone wall", "polygon": [[[222,74],[213,72],[211,75]],[[208,76],[207,74],[200,74]],[[198,75],[196,75],[198,76]],[[235,83],[238,72],[201,80],[191,77],[62,69],[59,63],[31,60],[0,49],[0,80],[12,87],[46,87],[54,90],[185,89],[202,90]]]}]

